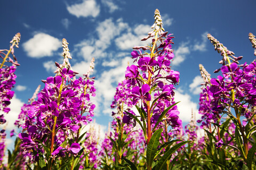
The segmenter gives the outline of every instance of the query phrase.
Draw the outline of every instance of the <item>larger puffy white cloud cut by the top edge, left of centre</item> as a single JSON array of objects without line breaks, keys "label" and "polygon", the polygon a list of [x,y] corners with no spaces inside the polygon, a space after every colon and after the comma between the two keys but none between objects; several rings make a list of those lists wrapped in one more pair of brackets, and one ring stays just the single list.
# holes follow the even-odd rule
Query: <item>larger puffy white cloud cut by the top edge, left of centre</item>
[{"label": "larger puffy white cloud cut by the top edge, left of centre", "polygon": [[80,16],[92,16],[95,18],[100,13],[100,5],[98,5],[95,0],[84,0],[80,4],[67,6],[67,10],[70,14],[75,15],[77,18]]}]

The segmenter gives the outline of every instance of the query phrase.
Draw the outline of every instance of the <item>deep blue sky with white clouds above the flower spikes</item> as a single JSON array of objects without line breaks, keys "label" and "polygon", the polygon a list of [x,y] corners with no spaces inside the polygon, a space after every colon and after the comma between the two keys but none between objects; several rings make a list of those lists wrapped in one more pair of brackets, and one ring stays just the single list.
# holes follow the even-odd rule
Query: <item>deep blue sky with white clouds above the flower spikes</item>
[{"label": "deep blue sky with white clouds above the flower spikes", "polygon": [[57,61],[62,63],[61,39],[66,38],[74,70],[86,73],[95,58],[97,97],[94,98],[95,121],[107,130],[112,120],[110,104],[117,82],[124,79],[127,63],[132,64],[133,46],[145,45],[140,39],[154,23],[154,11],[160,11],[163,27],[174,34],[173,70],[180,72],[175,100],[183,124],[189,121],[191,109],[197,112],[199,84],[198,65],[212,75],[221,65],[221,56],[207,39],[217,38],[244,62],[254,60],[249,32],[256,35],[256,1],[0,1],[0,49],[9,48],[15,33],[21,33],[15,56],[20,63],[15,84],[12,111],[7,116],[7,130],[13,129],[20,107],[33,95],[41,80],[53,76]]}]

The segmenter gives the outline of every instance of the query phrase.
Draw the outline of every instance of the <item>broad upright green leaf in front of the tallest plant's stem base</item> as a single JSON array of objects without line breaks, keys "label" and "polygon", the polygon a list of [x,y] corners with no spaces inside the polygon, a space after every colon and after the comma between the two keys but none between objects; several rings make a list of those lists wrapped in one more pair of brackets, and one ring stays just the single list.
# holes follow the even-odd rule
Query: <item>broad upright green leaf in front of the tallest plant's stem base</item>
[{"label": "broad upright green leaf in front of the tallest plant's stem base", "polygon": [[163,131],[163,129],[157,129],[153,133],[153,135],[148,143],[148,147],[147,147],[147,166],[148,167],[151,167],[151,165],[153,163],[154,157],[156,155],[156,150],[157,150],[157,147],[159,144],[159,138],[161,137],[162,131]]}]

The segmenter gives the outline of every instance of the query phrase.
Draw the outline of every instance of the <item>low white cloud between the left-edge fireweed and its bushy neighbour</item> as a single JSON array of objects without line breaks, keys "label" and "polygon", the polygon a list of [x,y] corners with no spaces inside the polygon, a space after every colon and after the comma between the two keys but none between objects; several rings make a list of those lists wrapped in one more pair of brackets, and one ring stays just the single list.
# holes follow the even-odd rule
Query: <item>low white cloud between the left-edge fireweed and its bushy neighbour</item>
[{"label": "low white cloud between the left-edge fireweed and its bushy neighbour", "polygon": [[18,120],[18,116],[21,112],[21,106],[23,106],[22,101],[18,99],[16,95],[14,95],[13,98],[11,99],[11,104],[9,105],[11,111],[8,114],[4,114],[6,123],[1,125],[2,129],[3,127],[5,127],[6,130],[15,129],[14,122]]}]

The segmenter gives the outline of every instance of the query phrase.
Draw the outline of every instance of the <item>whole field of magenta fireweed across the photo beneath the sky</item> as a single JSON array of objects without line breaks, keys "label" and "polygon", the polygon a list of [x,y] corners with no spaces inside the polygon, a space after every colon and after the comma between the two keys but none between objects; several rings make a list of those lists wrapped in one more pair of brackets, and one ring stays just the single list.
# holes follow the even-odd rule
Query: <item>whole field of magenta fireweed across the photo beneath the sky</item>
[{"label": "whole field of magenta fireweed across the photo beneath the sky", "polygon": [[[199,65],[204,80],[199,98],[202,118],[196,121],[191,112],[191,121],[183,128],[173,91],[180,73],[170,66],[174,37],[162,27],[158,10],[154,18],[152,31],[142,39],[150,44],[133,47],[134,63],[127,66],[125,79],[113,94],[113,121],[103,141],[93,128],[83,130],[94,116],[94,58],[87,73],[77,77],[63,39],[63,63],[55,62],[55,76],[42,80],[43,89],[38,86],[21,108],[13,150],[6,151],[6,132],[0,131],[0,169],[256,169],[256,61],[240,64],[242,56],[234,56],[208,34],[222,56],[214,71],[219,74],[211,78]],[[10,49],[0,50],[1,124],[6,123],[14,95],[14,72],[20,66],[14,48],[20,37],[17,33]],[[254,37],[249,33],[256,56]],[[199,128],[203,137],[197,136]]]}]

